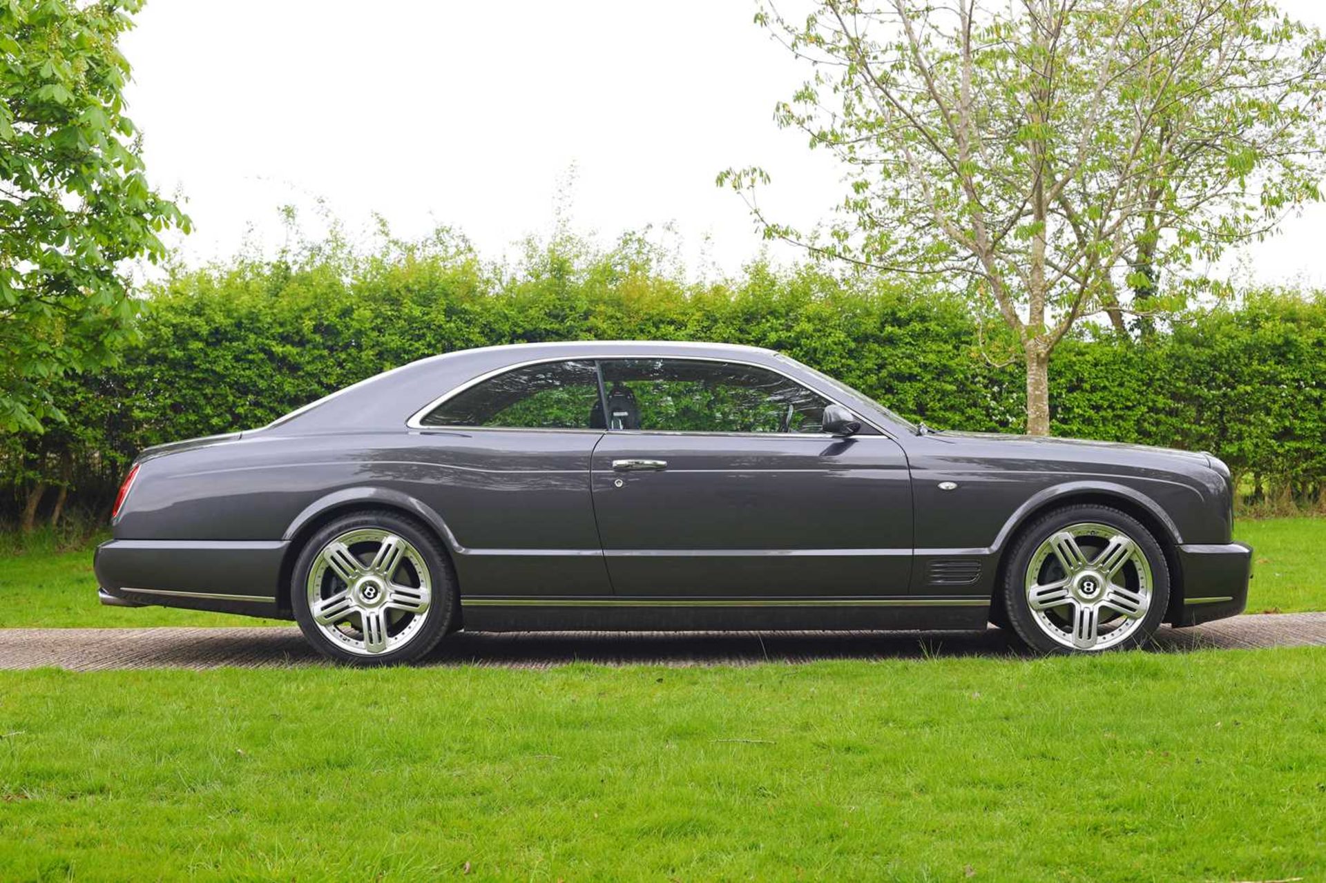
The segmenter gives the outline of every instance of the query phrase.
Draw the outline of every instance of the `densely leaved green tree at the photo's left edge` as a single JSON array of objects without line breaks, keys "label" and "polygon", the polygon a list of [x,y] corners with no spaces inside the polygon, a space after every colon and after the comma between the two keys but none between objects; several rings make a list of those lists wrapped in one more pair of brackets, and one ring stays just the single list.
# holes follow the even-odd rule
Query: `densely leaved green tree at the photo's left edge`
[{"label": "densely leaved green tree at the photo's left edge", "polygon": [[58,418],[49,384],[133,334],[126,263],[188,219],[149,186],[115,48],[139,0],[0,1],[0,431]]}]

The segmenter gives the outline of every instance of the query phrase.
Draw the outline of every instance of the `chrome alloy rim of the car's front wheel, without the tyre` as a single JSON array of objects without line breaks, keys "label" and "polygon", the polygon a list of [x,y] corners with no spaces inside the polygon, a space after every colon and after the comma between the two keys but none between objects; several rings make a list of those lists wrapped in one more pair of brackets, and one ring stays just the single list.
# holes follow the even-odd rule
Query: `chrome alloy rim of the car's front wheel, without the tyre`
[{"label": "chrome alloy rim of the car's front wheel, without the tyre", "polygon": [[1037,627],[1073,650],[1128,639],[1151,606],[1151,562],[1132,537],[1105,524],[1074,524],[1036,548],[1026,602]]}]

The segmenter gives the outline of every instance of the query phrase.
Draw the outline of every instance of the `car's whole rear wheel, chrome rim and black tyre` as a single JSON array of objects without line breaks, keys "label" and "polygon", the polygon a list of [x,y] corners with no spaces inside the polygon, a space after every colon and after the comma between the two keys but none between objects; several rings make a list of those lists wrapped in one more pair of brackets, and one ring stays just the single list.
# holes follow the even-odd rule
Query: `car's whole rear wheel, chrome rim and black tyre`
[{"label": "car's whole rear wheel, chrome rim and black tyre", "polygon": [[447,634],[455,577],[436,538],[391,512],[337,518],[294,565],[290,602],[318,652],[382,666],[414,662]]}]

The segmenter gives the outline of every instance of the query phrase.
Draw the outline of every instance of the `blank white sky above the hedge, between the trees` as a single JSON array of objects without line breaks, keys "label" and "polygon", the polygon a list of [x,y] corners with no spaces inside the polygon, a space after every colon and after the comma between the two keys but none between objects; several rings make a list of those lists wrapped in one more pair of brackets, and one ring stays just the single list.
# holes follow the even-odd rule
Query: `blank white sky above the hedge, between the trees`
[{"label": "blank white sky above the hedge, between the trees", "polygon": [[[1326,28],[1322,0],[1282,0]],[[278,245],[277,207],[317,231],[371,212],[412,237],[456,227],[485,257],[570,219],[609,243],[671,224],[692,273],[735,272],[762,243],[728,166],[773,175],[761,204],[806,228],[839,171],[773,106],[805,70],[752,24],[751,0],[150,0],[123,41],[129,114],[152,183],[178,191],[186,260]],[[1326,286],[1326,206],[1244,256],[1258,282]],[[773,247],[793,259],[790,247]]]}]

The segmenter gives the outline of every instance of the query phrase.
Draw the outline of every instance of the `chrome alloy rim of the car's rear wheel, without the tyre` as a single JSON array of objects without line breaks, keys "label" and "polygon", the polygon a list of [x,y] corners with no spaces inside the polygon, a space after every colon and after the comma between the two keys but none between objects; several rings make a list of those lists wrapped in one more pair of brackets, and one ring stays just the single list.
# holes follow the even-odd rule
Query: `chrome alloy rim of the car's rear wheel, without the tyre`
[{"label": "chrome alloy rim of the car's rear wheel, without the tyre", "polygon": [[318,552],[306,585],[318,630],[351,654],[399,650],[423,626],[432,581],[404,537],[377,528],[337,536]]}]

